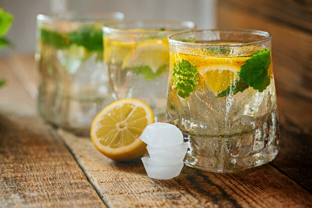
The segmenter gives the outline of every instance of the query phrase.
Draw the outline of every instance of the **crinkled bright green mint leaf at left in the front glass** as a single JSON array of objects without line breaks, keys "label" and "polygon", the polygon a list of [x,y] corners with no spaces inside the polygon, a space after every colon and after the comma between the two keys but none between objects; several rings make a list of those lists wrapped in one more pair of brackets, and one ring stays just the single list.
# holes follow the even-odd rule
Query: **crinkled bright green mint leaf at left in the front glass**
[{"label": "crinkled bright green mint leaf at left in the front glass", "polygon": [[186,98],[195,91],[198,76],[197,69],[188,61],[182,60],[174,63],[173,84],[181,98]]}]

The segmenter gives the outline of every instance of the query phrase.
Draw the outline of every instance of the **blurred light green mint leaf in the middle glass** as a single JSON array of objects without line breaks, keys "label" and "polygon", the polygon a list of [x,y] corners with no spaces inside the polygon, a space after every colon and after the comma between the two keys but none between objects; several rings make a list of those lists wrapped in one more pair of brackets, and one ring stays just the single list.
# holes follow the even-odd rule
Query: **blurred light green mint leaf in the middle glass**
[{"label": "blurred light green mint leaf in the middle glass", "polygon": [[127,67],[124,70],[133,71],[136,74],[141,74],[143,78],[147,81],[154,80],[160,74],[165,72],[167,69],[167,64],[161,65],[156,72],[152,70],[149,66],[136,66],[136,67]]}]

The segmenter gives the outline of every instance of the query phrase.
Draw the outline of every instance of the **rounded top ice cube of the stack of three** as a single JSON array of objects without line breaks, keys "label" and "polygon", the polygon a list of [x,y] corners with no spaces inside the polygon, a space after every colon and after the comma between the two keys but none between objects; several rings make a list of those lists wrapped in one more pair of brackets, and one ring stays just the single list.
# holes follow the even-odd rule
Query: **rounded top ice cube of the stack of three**
[{"label": "rounded top ice cube of the stack of three", "polygon": [[182,132],[174,125],[156,122],[148,125],[140,139],[150,147],[168,147],[183,143]]}]

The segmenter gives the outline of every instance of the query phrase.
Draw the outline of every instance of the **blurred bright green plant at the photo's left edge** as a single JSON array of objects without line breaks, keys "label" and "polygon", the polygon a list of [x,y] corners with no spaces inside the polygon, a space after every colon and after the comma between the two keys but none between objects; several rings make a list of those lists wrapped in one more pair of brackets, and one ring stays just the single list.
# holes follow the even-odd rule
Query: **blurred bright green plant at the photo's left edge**
[{"label": "blurred bright green plant at the photo's left edge", "polygon": [[[4,37],[10,29],[13,22],[13,15],[0,8],[0,49],[12,45],[11,42]],[[0,86],[5,84],[5,80],[0,79]]]}]

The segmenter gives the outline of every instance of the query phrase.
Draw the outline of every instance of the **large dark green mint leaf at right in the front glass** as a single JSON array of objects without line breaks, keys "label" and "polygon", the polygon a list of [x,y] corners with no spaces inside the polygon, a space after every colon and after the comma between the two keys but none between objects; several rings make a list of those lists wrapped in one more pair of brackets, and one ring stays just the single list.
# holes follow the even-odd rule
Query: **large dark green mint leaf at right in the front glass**
[{"label": "large dark green mint leaf at right in the front glass", "polygon": [[270,49],[266,48],[248,59],[237,74],[248,86],[263,92],[270,84],[270,75],[268,74],[270,63]]}]

